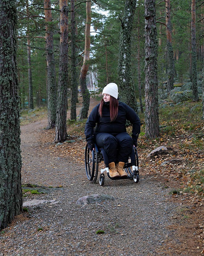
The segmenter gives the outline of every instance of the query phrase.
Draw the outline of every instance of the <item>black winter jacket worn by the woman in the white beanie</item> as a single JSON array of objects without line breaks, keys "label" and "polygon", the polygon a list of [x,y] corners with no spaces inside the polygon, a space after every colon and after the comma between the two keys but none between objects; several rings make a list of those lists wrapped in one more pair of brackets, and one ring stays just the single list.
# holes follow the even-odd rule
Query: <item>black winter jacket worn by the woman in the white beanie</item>
[{"label": "black winter jacket worn by the woman in the white beanie", "polygon": [[104,102],[102,117],[99,115],[99,106],[100,104],[92,109],[85,125],[84,134],[89,145],[94,143],[94,134],[96,133],[107,132],[116,135],[121,132],[126,132],[126,120],[130,121],[132,124],[132,139],[134,143],[137,142],[140,133],[140,120],[132,108],[119,101],[117,118],[115,121],[111,122],[109,102]]}]

